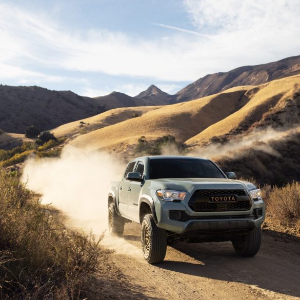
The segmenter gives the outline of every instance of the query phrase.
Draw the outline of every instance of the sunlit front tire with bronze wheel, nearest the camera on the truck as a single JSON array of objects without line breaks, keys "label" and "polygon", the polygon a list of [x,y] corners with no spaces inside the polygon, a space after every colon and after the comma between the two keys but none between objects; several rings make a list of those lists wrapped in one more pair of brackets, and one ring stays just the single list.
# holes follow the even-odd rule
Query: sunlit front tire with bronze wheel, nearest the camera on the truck
[{"label": "sunlit front tire with bronze wheel, nearest the camera on the truck", "polygon": [[142,252],[149,264],[161,263],[167,251],[167,233],[158,228],[151,214],[143,218],[141,228]]}]

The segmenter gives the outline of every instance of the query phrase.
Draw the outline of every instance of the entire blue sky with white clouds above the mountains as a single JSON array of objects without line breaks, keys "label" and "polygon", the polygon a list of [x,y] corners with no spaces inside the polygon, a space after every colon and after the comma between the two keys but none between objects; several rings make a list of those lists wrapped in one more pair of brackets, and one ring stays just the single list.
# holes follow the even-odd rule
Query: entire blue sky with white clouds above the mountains
[{"label": "entire blue sky with white clouds above the mountains", "polygon": [[131,96],[300,55],[298,0],[0,0],[0,83]]}]

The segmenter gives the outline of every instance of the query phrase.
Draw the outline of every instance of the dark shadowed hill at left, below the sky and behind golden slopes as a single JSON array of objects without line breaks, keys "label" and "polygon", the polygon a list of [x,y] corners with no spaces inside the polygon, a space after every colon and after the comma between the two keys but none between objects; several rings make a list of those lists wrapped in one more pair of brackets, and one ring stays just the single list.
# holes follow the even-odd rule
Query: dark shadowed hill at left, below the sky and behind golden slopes
[{"label": "dark shadowed hill at left, below the sky and behind golden slopes", "polygon": [[112,92],[107,96],[90,98],[71,91],[51,91],[40,87],[0,86],[0,129],[24,133],[29,125],[42,131],[90,117],[109,109],[165,104]]}]

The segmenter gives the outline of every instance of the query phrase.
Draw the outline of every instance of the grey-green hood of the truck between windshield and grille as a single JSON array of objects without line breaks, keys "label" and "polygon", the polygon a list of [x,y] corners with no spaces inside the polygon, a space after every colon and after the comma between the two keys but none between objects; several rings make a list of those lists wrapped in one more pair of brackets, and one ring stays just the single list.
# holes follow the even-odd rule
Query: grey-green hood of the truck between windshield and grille
[{"label": "grey-green hood of the truck between windshield and grille", "polygon": [[161,183],[168,189],[186,190],[191,187],[199,189],[254,189],[255,186],[245,181],[228,178],[163,178],[151,179],[156,183]]}]

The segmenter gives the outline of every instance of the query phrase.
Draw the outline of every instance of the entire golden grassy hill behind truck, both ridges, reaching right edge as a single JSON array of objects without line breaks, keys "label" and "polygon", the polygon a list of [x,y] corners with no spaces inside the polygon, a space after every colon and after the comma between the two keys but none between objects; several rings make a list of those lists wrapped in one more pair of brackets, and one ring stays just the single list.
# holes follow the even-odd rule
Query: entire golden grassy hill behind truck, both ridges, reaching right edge
[{"label": "entire golden grassy hill behind truck, both ridges, reaching right edge", "polygon": [[260,86],[235,87],[193,101],[149,109],[139,117],[79,135],[71,144],[130,152],[142,135],[153,141],[170,134],[194,151],[267,127],[287,130],[300,123],[299,89],[300,75]]}]

